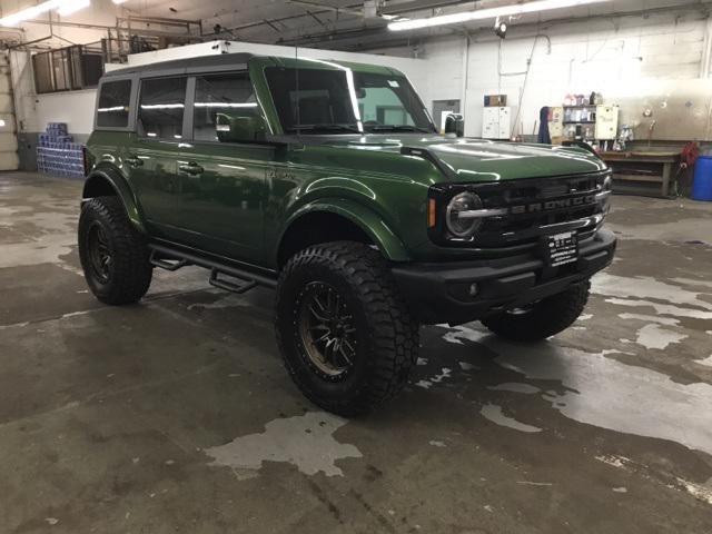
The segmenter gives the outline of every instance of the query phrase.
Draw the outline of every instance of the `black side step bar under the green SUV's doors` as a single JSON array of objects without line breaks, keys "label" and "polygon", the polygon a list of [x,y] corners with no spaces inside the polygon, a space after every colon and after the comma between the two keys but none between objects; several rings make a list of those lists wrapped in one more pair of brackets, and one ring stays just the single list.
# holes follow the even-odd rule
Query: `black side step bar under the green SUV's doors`
[{"label": "black side step bar under the green SUV's doors", "polygon": [[[162,245],[149,244],[149,248],[151,249],[151,265],[171,271],[188,265],[205,267],[206,269],[210,269],[209,284],[227,291],[243,294],[257,286],[273,289],[277,287],[276,277],[270,278],[233,265],[216,261],[211,258]],[[220,278],[220,275],[234,278],[237,281],[226,280]]]}]

